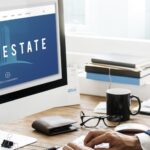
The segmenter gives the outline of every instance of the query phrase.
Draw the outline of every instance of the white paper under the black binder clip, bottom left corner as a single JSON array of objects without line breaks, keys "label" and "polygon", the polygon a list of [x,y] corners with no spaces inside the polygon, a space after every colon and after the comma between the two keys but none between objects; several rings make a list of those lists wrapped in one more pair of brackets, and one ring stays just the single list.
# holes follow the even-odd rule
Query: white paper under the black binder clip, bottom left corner
[{"label": "white paper under the black binder clip, bottom left corner", "polygon": [[[14,145],[11,148],[1,147],[1,143],[3,142],[4,139],[12,141]],[[24,136],[20,134],[14,134],[11,132],[5,132],[5,131],[0,130],[0,150],[15,150],[20,147],[24,147],[26,145],[32,144],[36,141],[37,139],[33,137]]]}]

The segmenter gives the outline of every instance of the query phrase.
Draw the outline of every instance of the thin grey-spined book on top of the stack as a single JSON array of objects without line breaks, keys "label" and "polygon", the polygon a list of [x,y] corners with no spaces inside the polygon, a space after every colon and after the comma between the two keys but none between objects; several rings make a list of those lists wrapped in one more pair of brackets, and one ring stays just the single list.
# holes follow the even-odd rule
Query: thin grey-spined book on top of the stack
[{"label": "thin grey-spined book on top of the stack", "polygon": [[93,63],[117,65],[129,68],[150,66],[150,58],[123,54],[103,54],[91,59]]}]

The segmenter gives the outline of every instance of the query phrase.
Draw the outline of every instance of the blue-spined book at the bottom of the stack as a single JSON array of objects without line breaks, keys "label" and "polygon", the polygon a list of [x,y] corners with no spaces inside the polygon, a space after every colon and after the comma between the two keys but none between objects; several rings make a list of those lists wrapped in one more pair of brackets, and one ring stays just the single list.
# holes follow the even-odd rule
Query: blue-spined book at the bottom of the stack
[{"label": "blue-spined book at the bottom of the stack", "polygon": [[143,78],[132,78],[132,77],[123,77],[123,76],[115,76],[115,75],[106,75],[100,73],[90,73],[86,72],[86,78],[98,81],[108,81],[108,82],[116,82],[123,84],[132,84],[132,85],[144,85],[149,84],[150,75],[147,75]]}]

